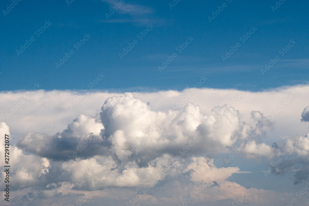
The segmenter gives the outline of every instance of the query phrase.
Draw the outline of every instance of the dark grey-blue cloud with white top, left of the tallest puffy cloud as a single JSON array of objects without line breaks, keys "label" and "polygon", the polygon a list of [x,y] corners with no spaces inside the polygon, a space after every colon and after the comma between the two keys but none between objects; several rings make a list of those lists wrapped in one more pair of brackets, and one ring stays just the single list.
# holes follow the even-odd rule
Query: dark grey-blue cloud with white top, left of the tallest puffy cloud
[{"label": "dark grey-blue cloud with white top, left of the tallest puffy cloud", "polygon": [[[63,132],[53,136],[28,132],[19,138],[16,145],[26,154],[34,153],[53,160],[66,160],[74,152],[81,151],[83,153],[78,157],[87,158],[108,153],[108,143],[100,137],[103,128],[94,117],[81,114]],[[27,149],[29,145],[31,150]]]}]

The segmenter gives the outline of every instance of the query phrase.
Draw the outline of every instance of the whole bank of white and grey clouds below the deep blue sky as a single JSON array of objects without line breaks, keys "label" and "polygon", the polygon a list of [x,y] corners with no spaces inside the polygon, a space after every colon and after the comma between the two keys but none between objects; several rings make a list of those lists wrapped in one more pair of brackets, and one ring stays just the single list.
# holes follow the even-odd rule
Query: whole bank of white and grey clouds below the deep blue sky
[{"label": "whole bank of white and grey clouds below the deep blue sky", "polygon": [[[308,134],[288,137],[282,144],[277,141],[277,148],[270,146],[281,130],[307,131],[306,125],[299,121],[299,108],[306,107],[302,100],[309,92],[308,87],[304,87],[289,108],[278,116],[274,112],[276,104],[293,90],[246,92],[231,107],[229,100],[239,91],[196,89],[181,105],[183,109],[175,111],[171,106],[190,90],[139,93],[137,98],[131,93],[94,92],[85,95],[73,109],[69,103],[78,96],[77,92],[38,90],[9,119],[5,113],[23,98],[23,92],[0,93],[0,116],[5,117],[3,119],[13,131],[10,134],[7,124],[0,123],[0,135],[7,133],[13,137],[10,150],[15,172],[11,189],[21,189],[16,191],[16,197],[21,200],[24,193],[43,185],[49,189],[38,200],[53,205],[47,200],[59,197],[63,201],[57,204],[65,205],[76,204],[76,199],[101,181],[93,192],[95,197],[87,201],[95,203],[103,198],[108,202],[111,196],[122,191],[123,199],[117,199],[116,195],[110,203],[125,204],[136,195],[136,187],[142,187],[151,193],[137,204],[165,205],[179,204],[193,192],[195,185],[208,178],[211,185],[196,196],[194,203],[220,205],[222,202],[217,201],[223,201],[231,204],[246,191],[254,194],[246,200],[250,205],[272,204],[270,194],[284,200],[286,197],[282,193],[247,189],[227,181],[242,171],[237,166],[219,168],[212,156],[229,153],[243,144],[241,155],[246,158],[273,158],[290,145],[297,145],[294,154],[307,158]],[[269,100],[271,98],[273,100]],[[264,104],[266,102],[268,104]],[[48,129],[49,123],[56,126],[42,135],[40,132]],[[17,141],[20,133],[23,134]],[[244,143],[243,140],[253,133],[257,134],[256,138]],[[24,155],[29,146],[29,154]],[[122,158],[124,156],[126,158]],[[306,166],[307,163],[303,161],[302,164]],[[305,166],[297,171],[299,181],[307,172]],[[2,172],[2,178],[3,175]],[[175,187],[166,194],[160,193],[159,190],[169,189],[169,183]],[[180,196],[173,195],[177,192]],[[256,198],[257,195],[263,198]]]}]

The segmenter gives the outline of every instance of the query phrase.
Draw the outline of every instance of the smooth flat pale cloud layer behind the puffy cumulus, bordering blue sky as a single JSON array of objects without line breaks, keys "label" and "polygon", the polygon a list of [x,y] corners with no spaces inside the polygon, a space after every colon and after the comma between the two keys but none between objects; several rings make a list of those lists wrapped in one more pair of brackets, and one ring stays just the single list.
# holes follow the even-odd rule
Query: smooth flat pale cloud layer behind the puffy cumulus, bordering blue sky
[{"label": "smooth flat pale cloud layer behind the puffy cumulus, bordering blue sky", "polygon": [[[273,136],[293,136],[295,133],[303,133],[307,131],[306,127],[299,124],[299,108],[307,107],[306,98],[309,95],[309,86],[305,86],[303,90],[295,97],[295,99],[284,108],[283,111],[276,115],[274,109],[278,108],[281,100],[284,101],[293,91],[298,89],[298,86],[282,87],[274,90],[262,92],[250,92],[246,94],[235,104],[229,102],[239,94],[237,90],[219,90],[201,88],[194,90],[186,89],[183,91],[158,91],[138,93],[137,98],[143,102],[150,102],[153,111],[167,112],[172,106],[176,105],[176,101],[181,99],[181,96],[188,92],[190,98],[186,100],[181,107],[184,107],[188,102],[192,102],[200,107],[203,113],[209,116],[215,113],[211,110],[214,107],[226,104],[227,107],[233,106],[241,114],[243,121],[252,123],[251,112],[261,111],[265,117],[271,117],[271,120],[276,122],[277,128],[273,132]],[[55,126],[49,131],[49,135],[53,135],[58,131],[67,128],[67,125],[72,122],[79,114],[89,114],[95,116],[96,110],[104,104],[104,101],[112,96],[123,95],[121,93],[108,93],[107,91],[92,91],[88,92],[83,99],[78,101],[73,109],[70,103],[74,99],[80,98],[79,93],[82,91],[70,90],[52,90],[44,91],[37,90],[32,97],[25,99],[24,95],[27,91],[0,92],[1,107],[0,119],[6,122],[11,128],[11,134],[14,137],[13,141],[17,140],[20,135],[29,131],[43,132],[49,124]],[[297,99],[296,99],[297,98]],[[10,108],[15,106],[15,103],[20,100],[25,103],[15,111],[11,117],[7,118],[6,113],[10,112]],[[297,115],[298,114],[298,115]],[[256,124],[256,123],[254,123]],[[269,137],[272,138],[272,137]]]}]

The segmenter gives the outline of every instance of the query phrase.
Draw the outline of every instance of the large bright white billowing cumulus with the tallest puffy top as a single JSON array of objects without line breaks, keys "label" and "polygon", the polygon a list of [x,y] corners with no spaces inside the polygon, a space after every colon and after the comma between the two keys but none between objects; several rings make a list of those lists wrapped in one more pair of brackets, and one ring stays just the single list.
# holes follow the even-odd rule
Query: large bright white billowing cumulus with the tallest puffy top
[{"label": "large bright white billowing cumulus with the tallest puffy top", "polygon": [[216,115],[221,109],[226,111],[219,118],[202,114],[193,103],[188,103],[184,110],[155,112],[145,102],[126,94],[107,99],[100,119],[105,128],[104,138],[112,144],[118,158],[132,156],[143,162],[162,153],[179,155],[191,140],[198,144],[185,152],[200,155],[224,151],[238,138],[248,136],[239,112],[225,105],[214,109]]}]

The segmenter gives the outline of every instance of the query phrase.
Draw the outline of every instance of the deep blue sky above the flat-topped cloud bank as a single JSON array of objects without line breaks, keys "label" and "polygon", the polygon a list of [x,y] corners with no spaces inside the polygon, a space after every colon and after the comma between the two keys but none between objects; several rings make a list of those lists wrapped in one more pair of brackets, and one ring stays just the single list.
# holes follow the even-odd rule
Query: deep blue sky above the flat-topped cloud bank
[{"label": "deep blue sky above the flat-topped cloud bank", "polygon": [[[87,89],[103,73],[105,79],[95,89],[183,90],[205,75],[204,87],[257,91],[295,85],[307,75],[308,2],[288,0],[273,12],[275,1],[183,0],[172,9],[168,5],[172,1],[124,1],[107,19],[111,2],[75,0],[68,6],[64,0],[29,0],[19,2],[6,16],[2,11],[1,90],[32,89],[35,82],[45,90]],[[2,1],[0,8],[5,10],[10,3]],[[210,22],[208,16],[223,3],[224,10]],[[45,20],[52,24],[37,37],[35,31]],[[137,34],[148,23],[155,27],[139,40]],[[250,27],[257,30],[242,43],[239,38]],[[85,33],[91,37],[75,50]],[[32,36],[35,41],[18,56],[16,50]],[[194,40],[178,53],[176,48],[187,36]],[[290,39],[297,43],[262,75],[260,69],[280,55]],[[119,53],[133,40],[138,44],[120,59]],[[223,62],[222,56],[238,42],[241,46]],[[55,63],[71,49],[75,53],[57,69]],[[159,72],[158,66],[174,52],[177,57]]]}]

